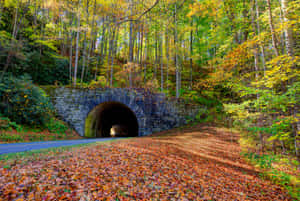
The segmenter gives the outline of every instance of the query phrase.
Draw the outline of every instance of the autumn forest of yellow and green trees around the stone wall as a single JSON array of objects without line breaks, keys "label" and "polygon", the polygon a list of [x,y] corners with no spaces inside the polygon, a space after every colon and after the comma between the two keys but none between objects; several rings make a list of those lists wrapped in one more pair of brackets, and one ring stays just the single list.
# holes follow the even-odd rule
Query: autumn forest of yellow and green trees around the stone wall
[{"label": "autumn forest of yellow and green trees around the stone wall", "polygon": [[299,0],[0,0],[0,129],[60,125],[49,85],[145,88],[204,106],[196,123],[239,130],[245,157],[294,175],[299,14]]}]

